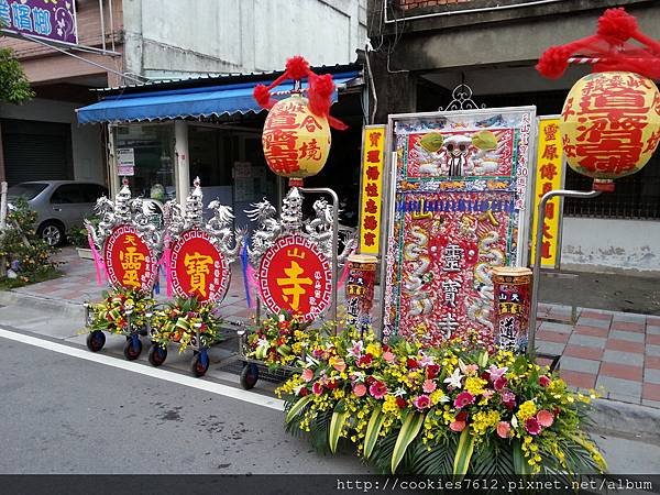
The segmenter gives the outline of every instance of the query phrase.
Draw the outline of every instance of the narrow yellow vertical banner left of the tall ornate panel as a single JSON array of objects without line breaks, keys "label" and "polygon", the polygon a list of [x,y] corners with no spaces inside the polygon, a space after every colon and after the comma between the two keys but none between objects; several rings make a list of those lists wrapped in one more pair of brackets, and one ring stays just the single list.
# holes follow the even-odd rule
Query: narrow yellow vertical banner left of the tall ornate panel
[{"label": "narrow yellow vertical banner left of the tall ornate panel", "polygon": [[385,125],[366,125],[362,133],[362,183],[360,200],[360,252],[378,254],[381,202],[385,162]]}]

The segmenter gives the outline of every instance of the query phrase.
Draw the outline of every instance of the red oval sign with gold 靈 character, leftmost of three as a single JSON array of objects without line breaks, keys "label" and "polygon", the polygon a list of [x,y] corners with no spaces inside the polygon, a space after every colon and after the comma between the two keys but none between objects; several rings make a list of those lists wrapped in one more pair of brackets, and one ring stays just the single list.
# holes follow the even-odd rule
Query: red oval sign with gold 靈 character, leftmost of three
[{"label": "red oval sign with gold \u9748 character, leftmost of three", "polygon": [[134,227],[121,224],[112,230],[106,241],[103,261],[113,287],[151,292],[154,286],[155,260]]}]

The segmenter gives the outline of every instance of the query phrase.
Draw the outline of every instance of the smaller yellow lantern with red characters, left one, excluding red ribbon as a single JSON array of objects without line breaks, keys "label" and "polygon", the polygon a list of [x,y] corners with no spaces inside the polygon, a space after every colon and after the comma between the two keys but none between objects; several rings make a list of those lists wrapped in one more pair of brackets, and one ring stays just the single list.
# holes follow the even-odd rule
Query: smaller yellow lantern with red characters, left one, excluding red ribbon
[{"label": "smaller yellow lantern with red characters, left one, excluding red ribbon", "polygon": [[321,172],[330,151],[330,125],[300,95],[276,102],[264,123],[264,156],[271,170],[304,178]]}]

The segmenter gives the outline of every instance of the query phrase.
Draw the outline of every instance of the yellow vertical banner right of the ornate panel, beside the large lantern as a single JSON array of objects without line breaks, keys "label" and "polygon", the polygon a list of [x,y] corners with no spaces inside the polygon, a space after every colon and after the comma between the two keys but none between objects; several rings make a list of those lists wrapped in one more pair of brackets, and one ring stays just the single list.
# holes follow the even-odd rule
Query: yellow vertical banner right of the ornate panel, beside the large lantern
[{"label": "yellow vertical banner right of the ornate panel, beside the large lantern", "polygon": [[[539,138],[535,170],[535,194],[532,207],[531,260],[536,260],[536,231],[541,197],[551,190],[561,189],[564,184],[565,165],[558,117],[539,118]],[[541,243],[541,267],[559,268],[561,255],[561,199],[553,197],[546,204],[543,237]]]}]

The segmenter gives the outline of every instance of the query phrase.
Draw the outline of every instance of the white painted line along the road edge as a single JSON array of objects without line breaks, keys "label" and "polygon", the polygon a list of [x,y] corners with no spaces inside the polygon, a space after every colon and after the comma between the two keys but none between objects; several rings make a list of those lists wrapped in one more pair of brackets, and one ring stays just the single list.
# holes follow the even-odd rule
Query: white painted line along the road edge
[{"label": "white painted line along the road edge", "polygon": [[275,410],[284,410],[284,402],[274,397],[267,397],[254,392],[241,391],[239,388],[222,385],[220,383],[207,382],[195,378],[193,376],[180,375],[157,367],[145,366],[133,361],[122,361],[106,354],[95,354],[86,349],[70,348],[50,340],[37,339],[24,333],[12,332],[0,327],[0,338],[14,340],[36,348],[46,349],[48,351],[58,352],[61,354],[70,355],[86,361],[91,361],[107,366],[119,367],[120,370],[140,373],[141,375],[151,376],[153,378],[164,380],[166,382],[177,383],[191,388],[209,392],[211,394],[222,395],[244,403],[263,406]]}]

